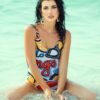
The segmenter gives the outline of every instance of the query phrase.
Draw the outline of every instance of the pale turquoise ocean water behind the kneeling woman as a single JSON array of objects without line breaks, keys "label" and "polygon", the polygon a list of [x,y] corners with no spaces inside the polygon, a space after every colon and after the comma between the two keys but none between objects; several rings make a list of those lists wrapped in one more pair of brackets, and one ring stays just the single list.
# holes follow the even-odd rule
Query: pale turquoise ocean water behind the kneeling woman
[{"label": "pale turquoise ocean water behind the kneeling woman", "polygon": [[[24,29],[35,22],[36,2],[0,0],[0,92],[26,80]],[[64,2],[72,34],[68,79],[100,95],[100,1]]]}]

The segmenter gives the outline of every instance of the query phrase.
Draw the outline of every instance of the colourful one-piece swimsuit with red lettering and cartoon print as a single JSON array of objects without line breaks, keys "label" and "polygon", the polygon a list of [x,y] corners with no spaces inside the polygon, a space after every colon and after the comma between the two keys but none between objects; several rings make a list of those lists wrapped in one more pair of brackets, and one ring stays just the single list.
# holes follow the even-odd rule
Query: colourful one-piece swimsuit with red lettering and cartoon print
[{"label": "colourful one-piece swimsuit with red lettering and cartoon print", "polygon": [[[43,46],[42,41],[39,38],[39,32],[37,28],[32,25],[36,29],[36,63],[38,69],[43,77],[43,79],[47,82],[48,86],[56,90],[58,83],[58,74],[59,74],[59,58],[61,54],[61,50],[63,48],[63,43],[61,40],[58,40],[56,45],[53,48],[47,49]],[[28,68],[28,82],[32,83],[37,89],[42,90],[40,85],[36,82],[34,76],[32,75],[30,69]]]}]

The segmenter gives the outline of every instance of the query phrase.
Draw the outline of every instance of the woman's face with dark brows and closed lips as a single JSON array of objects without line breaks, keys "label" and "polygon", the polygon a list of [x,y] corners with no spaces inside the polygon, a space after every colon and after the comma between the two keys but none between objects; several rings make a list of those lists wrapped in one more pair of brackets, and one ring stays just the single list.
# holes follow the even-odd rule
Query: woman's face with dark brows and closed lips
[{"label": "woman's face with dark brows and closed lips", "polygon": [[56,2],[54,0],[44,0],[42,2],[41,15],[45,21],[56,22],[59,16]]}]

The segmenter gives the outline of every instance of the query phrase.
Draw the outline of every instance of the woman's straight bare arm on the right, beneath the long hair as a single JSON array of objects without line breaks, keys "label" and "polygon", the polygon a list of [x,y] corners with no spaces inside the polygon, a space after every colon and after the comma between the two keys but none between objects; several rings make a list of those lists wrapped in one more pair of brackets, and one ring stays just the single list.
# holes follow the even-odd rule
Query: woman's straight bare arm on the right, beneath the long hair
[{"label": "woman's straight bare arm on the right, beneath the long hair", "polygon": [[64,47],[62,49],[59,62],[59,79],[58,79],[58,88],[56,94],[61,94],[64,90],[64,86],[67,79],[70,45],[71,45],[71,33],[69,31],[66,31]]}]

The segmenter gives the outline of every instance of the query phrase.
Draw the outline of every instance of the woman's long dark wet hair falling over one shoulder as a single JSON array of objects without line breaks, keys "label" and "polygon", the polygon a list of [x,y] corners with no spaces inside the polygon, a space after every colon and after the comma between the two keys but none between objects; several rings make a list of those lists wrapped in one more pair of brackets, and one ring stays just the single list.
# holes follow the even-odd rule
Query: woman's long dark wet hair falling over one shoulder
[{"label": "woman's long dark wet hair falling over one shoulder", "polygon": [[[38,0],[37,6],[36,6],[36,23],[41,21],[41,6],[42,2],[44,0]],[[66,29],[65,29],[65,11],[64,11],[64,2],[63,0],[54,0],[57,4],[57,8],[59,11],[59,22],[56,22],[56,30],[58,31],[58,34],[60,36],[60,39],[62,42],[64,42],[65,39],[65,34],[66,34]]]}]

